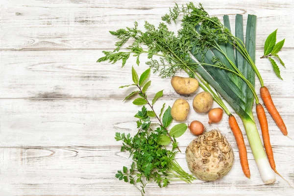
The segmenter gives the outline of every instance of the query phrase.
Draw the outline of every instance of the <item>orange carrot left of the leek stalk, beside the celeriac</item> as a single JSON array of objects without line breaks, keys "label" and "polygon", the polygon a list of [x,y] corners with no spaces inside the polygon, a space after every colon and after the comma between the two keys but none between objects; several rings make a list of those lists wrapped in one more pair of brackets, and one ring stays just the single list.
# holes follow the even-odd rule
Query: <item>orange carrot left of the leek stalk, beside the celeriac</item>
[{"label": "orange carrot left of the leek stalk, beside the celeriac", "polygon": [[229,125],[235,136],[235,140],[237,142],[237,146],[239,149],[240,163],[242,166],[243,173],[245,174],[246,177],[250,178],[250,170],[248,165],[247,150],[245,147],[244,138],[243,138],[241,129],[233,115],[229,116]]}]

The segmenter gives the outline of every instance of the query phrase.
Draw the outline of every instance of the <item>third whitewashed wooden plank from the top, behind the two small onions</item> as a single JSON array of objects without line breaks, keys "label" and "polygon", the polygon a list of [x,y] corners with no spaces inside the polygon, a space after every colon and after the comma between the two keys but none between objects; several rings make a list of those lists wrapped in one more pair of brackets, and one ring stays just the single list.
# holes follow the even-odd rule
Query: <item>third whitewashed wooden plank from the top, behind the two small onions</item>
[{"label": "third whitewashed wooden plank from the top, behind the two small onions", "polygon": [[[293,98],[275,98],[289,130],[294,138],[294,105],[285,104]],[[162,104],[172,106],[174,98],[159,99],[155,111],[160,112]],[[235,139],[228,125],[227,115],[219,124],[208,125],[207,114],[197,114],[192,108],[193,98],[187,98],[190,113],[185,123],[198,120],[207,130],[219,128],[233,146]],[[139,106],[123,102],[123,99],[0,99],[0,147],[97,147],[119,146],[115,132],[136,134],[134,115]],[[166,108],[167,108],[166,106]],[[213,107],[218,105],[214,103]],[[231,110],[231,108],[229,108]],[[232,111],[232,110],[231,110]],[[255,109],[253,109],[253,112]],[[254,112],[255,116],[255,112]],[[271,144],[273,146],[294,146],[293,140],[284,136],[267,114]],[[239,118],[238,122],[242,127]],[[257,119],[255,119],[257,122]],[[156,122],[156,120],[154,120]],[[176,123],[172,123],[170,128]],[[258,123],[257,123],[258,125]],[[259,125],[258,125],[259,127]],[[242,128],[244,135],[245,130]],[[189,131],[177,139],[181,146],[187,146],[195,136]],[[245,136],[245,144],[248,141]]]}]

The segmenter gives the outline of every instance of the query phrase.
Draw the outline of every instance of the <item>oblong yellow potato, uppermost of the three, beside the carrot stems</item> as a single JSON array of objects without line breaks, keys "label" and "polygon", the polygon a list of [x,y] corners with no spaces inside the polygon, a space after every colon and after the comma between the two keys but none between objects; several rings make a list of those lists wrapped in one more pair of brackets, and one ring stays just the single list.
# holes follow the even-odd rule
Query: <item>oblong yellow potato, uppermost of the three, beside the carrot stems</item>
[{"label": "oblong yellow potato, uppermost of the three, beside the carrot stems", "polygon": [[198,80],[191,77],[174,76],[171,80],[172,87],[178,94],[190,95],[194,93],[198,86]]}]

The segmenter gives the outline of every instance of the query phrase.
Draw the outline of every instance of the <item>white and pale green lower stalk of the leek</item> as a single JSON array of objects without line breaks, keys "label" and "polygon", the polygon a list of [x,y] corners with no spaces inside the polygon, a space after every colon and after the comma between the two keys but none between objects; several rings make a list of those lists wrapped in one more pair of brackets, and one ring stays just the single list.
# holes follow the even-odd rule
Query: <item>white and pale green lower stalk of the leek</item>
[{"label": "white and pale green lower stalk of the leek", "polygon": [[265,184],[274,183],[275,174],[270,167],[255,122],[252,119],[243,119],[243,124],[261,179]]}]

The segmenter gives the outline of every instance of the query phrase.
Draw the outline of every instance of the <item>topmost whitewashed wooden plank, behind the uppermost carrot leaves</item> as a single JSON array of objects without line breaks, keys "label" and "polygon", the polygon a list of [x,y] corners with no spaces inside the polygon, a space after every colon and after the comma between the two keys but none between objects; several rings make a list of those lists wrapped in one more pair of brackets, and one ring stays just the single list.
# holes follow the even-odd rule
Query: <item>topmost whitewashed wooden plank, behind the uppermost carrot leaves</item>
[{"label": "topmost whitewashed wooden plank, behind the uppermost carrot leaves", "polygon": [[[177,1],[186,3],[184,0]],[[289,24],[294,21],[294,1],[202,0],[211,15],[255,14],[257,20],[257,48],[263,48],[265,39],[279,28],[280,40],[286,38],[285,48],[294,41]],[[115,38],[109,30],[132,26],[134,21],[143,28],[147,20],[157,25],[161,16],[174,5],[173,0],[64,1],[14,0],[2,3],[0,49],[103,49],[113,48]],[[245,23],[246,24],[246,23]],[[233,25],[232,25],[233,27]],[[176,30],[179,26],[172,26]],[[234,30],[234,29],[232,29]]]}]

